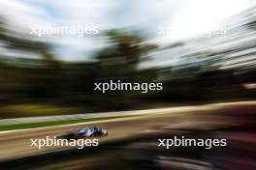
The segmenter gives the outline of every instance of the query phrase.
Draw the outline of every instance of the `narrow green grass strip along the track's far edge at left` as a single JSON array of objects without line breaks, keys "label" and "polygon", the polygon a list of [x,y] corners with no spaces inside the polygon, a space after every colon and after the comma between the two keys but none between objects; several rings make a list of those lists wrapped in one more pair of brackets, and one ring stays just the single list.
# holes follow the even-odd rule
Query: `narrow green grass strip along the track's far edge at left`
[{"label": "narrow green grass strip along the track's far edge at left", "polygon": [[80,120],[50,121],[50,122],[29,123],[29,124],[4,125],[4,126],[0,126],[0,131],[12,130],[12,129],[42,128],[42,127],[78,124],[78,123],[110,120],[110,119],[123,118],[123,117],[128,117],[128,116],[114,116],[114,117],[89,118],[89,119],[80,119]]}]

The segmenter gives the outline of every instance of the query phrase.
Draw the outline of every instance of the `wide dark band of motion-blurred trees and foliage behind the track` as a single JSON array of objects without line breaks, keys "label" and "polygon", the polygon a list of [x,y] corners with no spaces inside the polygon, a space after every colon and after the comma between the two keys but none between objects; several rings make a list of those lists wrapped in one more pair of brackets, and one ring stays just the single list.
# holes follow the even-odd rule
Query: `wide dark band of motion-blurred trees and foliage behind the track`
[{"label": "wide dark band of motion-blurred trees and foliage behind the track", "polygon": [[[102,38],[108,45],[95,53],[93,62],[64,63],[56,60],[50,44],[16,36],[5,28],[3,21],[0,22],[0,42],[7,49],[39,56],[30,59],[0,54],[0,117],[130,110],[255,98],[255,89],[242,87],[244,77],[255,77],[255,71],[234,76],[234,70],[215,67],[222,62],[221,56],[233,50],[221,51],[222,55],[210,51],[191,53],[180,57],[184,61],[180,65],[142,70],[140,64],[149,60],[151,52],[159,51],[159,46],[149,43],[142,35],[123,30],[107,31]],[[170,45],[167,50],[184,44]],[[102,94],[93,90],[95,82],[111,79],[139,83],[161,81],[164,89],[146,94],[135,91]]]}]

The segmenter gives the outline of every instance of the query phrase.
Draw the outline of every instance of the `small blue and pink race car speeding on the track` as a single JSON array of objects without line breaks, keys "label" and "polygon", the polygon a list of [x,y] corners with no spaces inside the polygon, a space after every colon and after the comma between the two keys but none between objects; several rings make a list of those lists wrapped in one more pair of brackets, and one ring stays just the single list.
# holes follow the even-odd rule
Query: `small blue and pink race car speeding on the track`
[{"label": "small blue and pink race car speeding on the track", "polygon": [[80,139],[80,138],[88,138],[93,136],[107,136],[108,131],[103,128],[80,128],[78,130],[73,130],[67,132],[64,135],[58,136],[57,138],[61,139]]}]

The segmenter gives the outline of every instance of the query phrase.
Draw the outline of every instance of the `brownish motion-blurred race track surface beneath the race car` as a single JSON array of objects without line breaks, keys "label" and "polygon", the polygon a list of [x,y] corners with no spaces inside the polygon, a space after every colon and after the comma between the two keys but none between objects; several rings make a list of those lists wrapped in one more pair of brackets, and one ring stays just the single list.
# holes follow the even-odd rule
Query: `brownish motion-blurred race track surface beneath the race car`
[{"label": "brownish motion-blurred race track surface beneath the race car", "polygon": [[[212,129],[220,127],[234,127],[249,123],[252,118],[247,119],[247,115],[242,115],[243,110],[255,113],[256,105],[253,103],[236,103],[221,105],[217,107],[200,106],[198,109],[187,110],[185,113],[163,113],[135,116],[129,118],[118,118],[109,121],[99,121],[94,123],[77,124],[69,126],[56,126],[48,128],[33,128],[0,133],[0,162],[8,160],[18,160],[18,158],[28,156],[47,156],[52,153],[70,151],[70,148],[45,147],[39,150],[31,147],[30,139],[41,139],[46,136],[53,137],[64,134],[70,129],[84,127],[100,127],[108,129],[109,135],[99,138],[101,145],[113,145],[116,141],[126,141],[134,137],[144,136],[155,131],[165,129]],[[204,109],[202,108],[204,107]],[[249,108],[249,109],[248,109]],[[236,114],[234,112],[237,112]],[[251,114],[250,114],[251,115]],[[246,118],[246,119],[241,119]],[[252,115],[255,118],[255,114]],[[91,147],[84,147],[91,150]],[[94,147],[95,149],[95,147]],[[92,149],[93,150],[93,149]],[[97,150],[97,149],[96,149]],[[81,152],[77,148],[73,152]]]}]

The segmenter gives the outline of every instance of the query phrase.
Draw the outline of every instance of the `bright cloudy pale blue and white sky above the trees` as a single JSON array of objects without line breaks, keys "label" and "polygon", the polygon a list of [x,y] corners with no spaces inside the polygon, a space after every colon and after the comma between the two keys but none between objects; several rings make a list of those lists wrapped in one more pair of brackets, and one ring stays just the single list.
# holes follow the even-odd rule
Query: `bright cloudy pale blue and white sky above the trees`
[{"label": "bright cloudy pale blue and white sky above the trees", "polygon": [[[143,30],[159,43],[176,42],[204,34],[221,20],[252,6],[252,0],[8,0],[0,2],[0,15],[10,29],[30,32],[31,27],[47,24],[97,25],[100,32],[112,28]],[[168,27],[168,36],[159,35],[159,27]],[[105,45],[95,38],[59,36],[41,38],[55,44],[62,60],[89,59]]]}]

